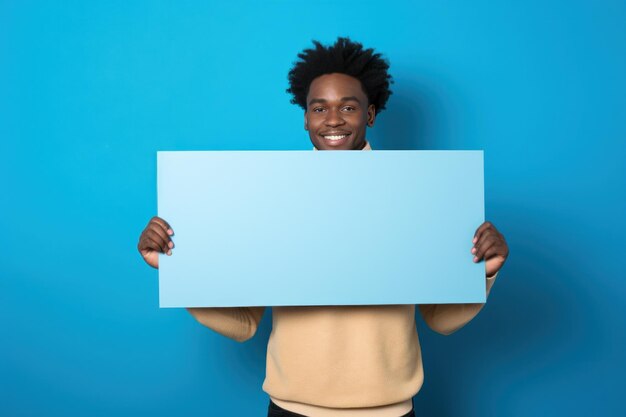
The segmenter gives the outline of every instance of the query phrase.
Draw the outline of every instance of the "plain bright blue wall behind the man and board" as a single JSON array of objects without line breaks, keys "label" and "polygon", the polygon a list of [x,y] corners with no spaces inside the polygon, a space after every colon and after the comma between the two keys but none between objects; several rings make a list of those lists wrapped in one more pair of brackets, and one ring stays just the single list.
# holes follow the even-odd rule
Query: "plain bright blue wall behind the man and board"
[{"label": "plain bright blue wall behind the man and board", "polygon": [[223,3],[0,3],[0,414],[263,415],[270,315],[159,310],[136,244],[157,150],[310,149],[286,74],[337,35],[391,62],[373,147],[484,149],[511,249],[466,328],[418,323],[418,413],[623,412],[624,2]]}]

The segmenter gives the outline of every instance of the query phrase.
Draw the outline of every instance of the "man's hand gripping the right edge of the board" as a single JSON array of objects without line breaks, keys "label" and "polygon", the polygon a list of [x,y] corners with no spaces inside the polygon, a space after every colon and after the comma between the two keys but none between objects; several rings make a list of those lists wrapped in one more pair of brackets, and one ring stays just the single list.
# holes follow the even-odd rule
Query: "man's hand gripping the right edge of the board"
[{"label": "man's hand gripping the right edge of the board", "polygon": [[504,236],[491,222],[481,224],[474,233],[474,247],[471,252],[474,254],[474,262],[485,260],[485,273],[492,277],[502,268],[506,258],[509,256],[509,246],[504,240]]}]

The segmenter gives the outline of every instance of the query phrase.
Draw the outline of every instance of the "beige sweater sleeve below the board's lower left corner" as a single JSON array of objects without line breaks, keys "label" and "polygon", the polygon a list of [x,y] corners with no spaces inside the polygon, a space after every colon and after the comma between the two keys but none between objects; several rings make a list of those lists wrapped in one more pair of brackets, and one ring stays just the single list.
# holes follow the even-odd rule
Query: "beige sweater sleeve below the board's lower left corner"
[{"label": "beige sweater sleeve below the board's lower left corner", "polygon": [[265,307],[188,307],[187,311],[209,329],[245,342],[256,333]]}]

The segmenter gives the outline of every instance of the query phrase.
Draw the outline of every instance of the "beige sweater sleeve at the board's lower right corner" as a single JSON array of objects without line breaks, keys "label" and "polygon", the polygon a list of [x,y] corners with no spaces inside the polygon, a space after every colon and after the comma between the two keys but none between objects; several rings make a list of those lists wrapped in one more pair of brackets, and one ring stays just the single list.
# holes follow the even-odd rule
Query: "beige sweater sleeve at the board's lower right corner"
[{"label": "beige sweater sleeve at the board's lower right corner", "polygon": [[[487,297],[496,281],[495,275],[486,278]],[[483,308],[484,303],[420,304],[419,310],[428,327],[444,335],[456,332],[469,323]]]}]

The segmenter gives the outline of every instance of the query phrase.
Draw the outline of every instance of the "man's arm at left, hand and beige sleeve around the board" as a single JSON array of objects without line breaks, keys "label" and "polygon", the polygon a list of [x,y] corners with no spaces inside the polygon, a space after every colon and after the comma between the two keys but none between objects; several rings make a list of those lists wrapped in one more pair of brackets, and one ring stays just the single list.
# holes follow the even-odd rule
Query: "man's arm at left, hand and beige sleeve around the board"
[{"label": "man's arm at left, hand and beige sleeve around the board", "polygon": [[[139,236],[137,249],[144,261],[153,268],[159,268],[159,253],[172,255],[174,231],[160,217],[153,217]],[[243,342],[256,333],[265,307],[233,308],[187,308],[187,311],[206,327],[217,333]]]}]

